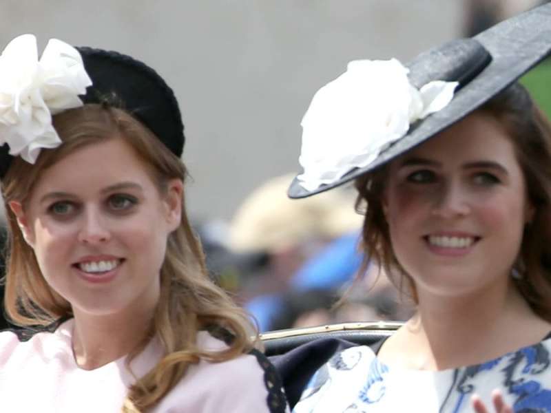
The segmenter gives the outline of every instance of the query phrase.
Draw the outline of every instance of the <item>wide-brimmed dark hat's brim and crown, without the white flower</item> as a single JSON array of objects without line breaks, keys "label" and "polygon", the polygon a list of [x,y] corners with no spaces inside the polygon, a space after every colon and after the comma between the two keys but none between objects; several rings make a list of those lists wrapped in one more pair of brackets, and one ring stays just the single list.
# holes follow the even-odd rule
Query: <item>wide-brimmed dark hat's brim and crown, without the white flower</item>
[{"label": "wide-brimmed dark hat's brim and crown, without the white flower", "polygon": [[[368,165],[355,167],[314,189],[305,189],[295,178],[289,187],[289,197],[305,198],[380,167],[470,114],[517,81],[550,51],[551,4],[546,4],[502,21],[472,38],[450,41],[419,54],[406,64],[410,84],[419,89],[430,81],[458,82],[448,105],[410,125],[402,138],[382,149]],[[339,140],[342,136],[331,138]]]}]

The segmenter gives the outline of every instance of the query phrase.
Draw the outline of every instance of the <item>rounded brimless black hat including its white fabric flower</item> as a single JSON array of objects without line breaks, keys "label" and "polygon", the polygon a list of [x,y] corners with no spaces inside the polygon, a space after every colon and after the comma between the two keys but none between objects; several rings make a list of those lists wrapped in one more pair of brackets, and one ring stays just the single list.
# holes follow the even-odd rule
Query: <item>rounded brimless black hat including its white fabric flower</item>
[{"label": "rounded brimless black hat including its white fabric flower", "polygon": [[184,125],[174,92],[145,63],[57,39],[50,39],[37,59],[32,34],[13,39],[1,57],[0,178],[14,156],[34,163],[41,149],[60,145],[51,116],[86,103],[125,110],[174,155],[182,155]]}]

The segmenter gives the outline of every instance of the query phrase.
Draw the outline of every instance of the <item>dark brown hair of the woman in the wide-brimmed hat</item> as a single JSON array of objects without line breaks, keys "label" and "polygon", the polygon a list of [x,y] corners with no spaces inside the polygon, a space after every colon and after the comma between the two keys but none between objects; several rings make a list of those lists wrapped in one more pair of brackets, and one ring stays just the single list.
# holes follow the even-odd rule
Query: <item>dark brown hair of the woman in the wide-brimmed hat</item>
[{"label": "dark brown hair of the woman in the wide-brimmed hat", "polygon": [[[526,89],[514,83],[477,111],[493,116],[506,130],[535,213],[527,224],[517,260],[523,277],[517,287],[540,317],[551,321],[551,125]],[[392,248],[382,194],[388,164],[355,180],[356,209],[365,214],[362,230],[366,260],[379,262],[391,282],[417,303],[413,279],[399,264]],[[367,262],[364,262],[366,267]]]}]

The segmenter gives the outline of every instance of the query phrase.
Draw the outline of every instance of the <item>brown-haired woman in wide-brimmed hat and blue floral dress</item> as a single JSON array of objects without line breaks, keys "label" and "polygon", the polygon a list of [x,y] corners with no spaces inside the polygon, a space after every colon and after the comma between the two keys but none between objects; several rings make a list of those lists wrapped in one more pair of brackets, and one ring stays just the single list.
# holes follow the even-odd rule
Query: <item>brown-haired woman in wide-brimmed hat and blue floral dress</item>
[{"label": "brown-haired woman in wide-brimmed hat and blue floral dress", "polygon": [[334,354],[293,412],[551,412],[551,127],[515,83],[550,52],[550,14],[408,67],[351,62],[313,98],[289,194],[353,180],[364,250],[417,310]]}]

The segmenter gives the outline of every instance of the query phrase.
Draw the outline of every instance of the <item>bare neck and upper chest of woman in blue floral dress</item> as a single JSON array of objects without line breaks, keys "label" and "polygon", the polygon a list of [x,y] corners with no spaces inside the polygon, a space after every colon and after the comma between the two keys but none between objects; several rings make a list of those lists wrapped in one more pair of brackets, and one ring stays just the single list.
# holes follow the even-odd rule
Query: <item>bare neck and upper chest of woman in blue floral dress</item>
[{"label": "bare neck and upper chest of woman in blue floral dress", "polygon": [[416,370],[470,366],[536,343],[550,330],[511,283],[461,297],[419,291],[417,314],[387,356]]}]

